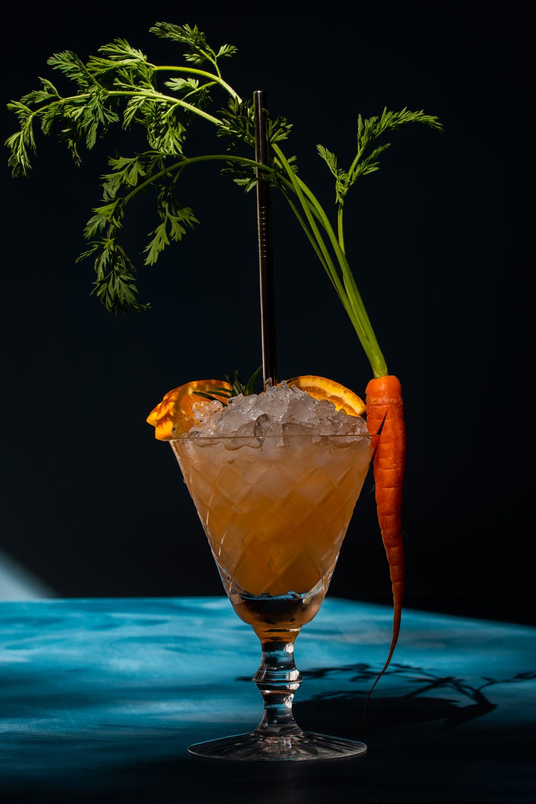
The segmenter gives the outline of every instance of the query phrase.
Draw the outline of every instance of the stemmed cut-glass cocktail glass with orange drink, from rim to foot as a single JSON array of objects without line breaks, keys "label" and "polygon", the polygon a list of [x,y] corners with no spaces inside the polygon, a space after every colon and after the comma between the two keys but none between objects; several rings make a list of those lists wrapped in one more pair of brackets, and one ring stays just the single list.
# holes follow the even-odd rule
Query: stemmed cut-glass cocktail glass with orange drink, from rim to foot
[{"label": "stemmed cut-glass cocktail glass with orange drink, from rim to foot", "polygon": [[366,751],[303,731],[294,642],[329,586],[370,462],[370,437],[186,437],[170,441],[227,595],[260,639],[253,681],[264,716],[251,734],[191,745],[199,757],[313,760]]}]

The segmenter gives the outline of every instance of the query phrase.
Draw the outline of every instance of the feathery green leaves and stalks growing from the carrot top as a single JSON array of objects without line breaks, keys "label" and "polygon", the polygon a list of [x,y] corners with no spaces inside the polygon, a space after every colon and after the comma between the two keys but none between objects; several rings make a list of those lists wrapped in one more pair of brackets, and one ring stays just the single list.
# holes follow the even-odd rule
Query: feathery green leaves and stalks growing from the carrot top
[{"label": "feathery green leaves and stalks growing from the carrot top", "polygon": [[[350,317],[374,376],[386,375],[385,360],[346,258],[344,203],[358,178],[378,170],[378,157],[389,146],[377,145],[378,137],[411,122],[440,129],[437,118],[408,109],[384,109],[379,117],[365,120],[359,115],[357,153],[348,170],[338,166],[335,154],[317,146],[335,179],[337,224],[333,228],[324,207],[298,176],[296,157],[286,157],[280,148],[292,128],[284,117],[268,115],[269,165],[258,165],[246,155],[255,146],[252,101],[243,100],[223,80],[220,69],[221,59],[234,55],[236,48],[229,44],[212,48],[197,26],[156,23],[150,31],[185,47],[186,64],[152,64],[125,39],[115,39],[85,63],[73,51],[56,53],[48,59],[51,68],[75,84],[72,94],[61,94],[51,80],[42,78],[39,89],[8,104],[20,125],[6,141],[14,176],[27,175],[31,170],[37,126],[45,134],[55,129],[76,165],[80,164],[81,146],[92,149],[111,125],[121,124],[123,129],[137,125],[144,130],[147,150],[108,158],[110,170],[101,177],[101,202],[92,210],[84,229],[88,246],[78,259],[94,260],[96,280],[92,293],[113,313],[149,307],[137,299],[137,269],[121,245],[127,204],[139,193],[151,190],[156,196],[156,225],[145,247],[145,265],[154,265],[171,242],[182,240],[199,223],[192,208],[182,201],[186,174],[190,172],[187,169],[201,162],[223,162],[222,173],[250,191],[256,185],[256,169],[260,168],[261,178],[282,191],[305,231]],[[219,108],[221,100],[217,104],[212,100],[216,91],[223,92],[223,108]],[[187,155],[186,137],[196,119],[214,125],[216,137],[227,141],[227,150]]]}]

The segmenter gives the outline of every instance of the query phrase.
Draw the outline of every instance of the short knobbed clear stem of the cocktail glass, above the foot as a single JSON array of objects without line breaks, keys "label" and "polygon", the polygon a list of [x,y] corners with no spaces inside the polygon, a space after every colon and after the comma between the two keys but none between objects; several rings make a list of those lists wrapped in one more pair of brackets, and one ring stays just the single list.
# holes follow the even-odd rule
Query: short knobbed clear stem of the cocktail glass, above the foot
[{"label": "short knobbed clear stem of the cocktail glass, above the foot", "polygon": [[254,734],[280,736],[301,733],[293,718],[294,692],[301,684],[301,673],[294,664],[292,641],[261,642],[262,658],[253,681],[264,700],[264,716]]}]

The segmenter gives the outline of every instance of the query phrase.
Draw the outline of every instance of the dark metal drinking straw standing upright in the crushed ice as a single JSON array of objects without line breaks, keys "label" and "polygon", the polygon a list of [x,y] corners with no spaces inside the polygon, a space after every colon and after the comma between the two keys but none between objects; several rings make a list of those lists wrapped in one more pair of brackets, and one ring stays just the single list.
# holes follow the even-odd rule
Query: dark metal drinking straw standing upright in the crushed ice
[{"label": "dark metal drinking straw standing upright in the crushed ice", "polygon": [[[266,92],[253,92],[255,110],[255,161],[268,165],[268,138],[266,136]],[[260,269],[260,331],[263,350],[264,388],[276,385],[276,318],[273,300],[272,217],[270,215],[270,184],[260,181],[262,171],[257,168],[257,230],[259,232]]]}]

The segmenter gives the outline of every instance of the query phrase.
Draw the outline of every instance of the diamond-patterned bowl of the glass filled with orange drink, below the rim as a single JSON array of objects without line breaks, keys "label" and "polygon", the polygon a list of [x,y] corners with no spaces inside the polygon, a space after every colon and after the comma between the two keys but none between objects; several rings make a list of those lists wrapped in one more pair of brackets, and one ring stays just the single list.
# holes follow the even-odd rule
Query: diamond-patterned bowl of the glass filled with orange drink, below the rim
[{"label": "diamond-patterned bowl of the glass filled with orange drink, below the rim", "polygon": [[297,629],[325,596],[370,461],[366,436],[170,442],[236,613]]}]

